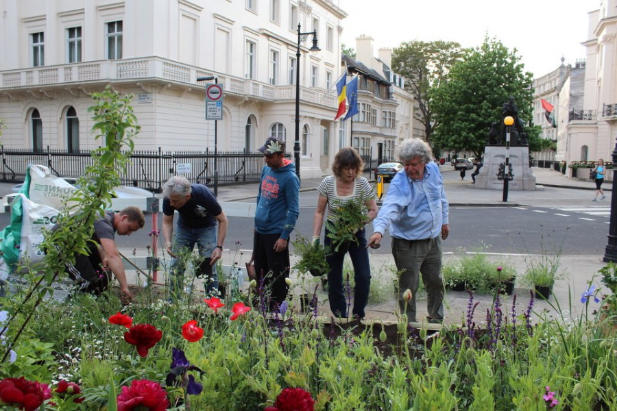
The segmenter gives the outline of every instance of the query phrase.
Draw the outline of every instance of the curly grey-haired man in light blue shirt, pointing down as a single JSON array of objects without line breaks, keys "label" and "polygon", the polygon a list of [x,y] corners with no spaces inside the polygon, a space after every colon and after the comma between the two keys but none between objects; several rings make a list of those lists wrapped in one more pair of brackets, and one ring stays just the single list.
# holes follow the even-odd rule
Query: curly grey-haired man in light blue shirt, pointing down
[{"label": "curly grey-haired man in light blue shirt, pointing down", "polygon": [[[448,238],[448,200],[433,152],[420,138],[404,140],[398,147],[404,169],[390,183],[383,206],[373,222],[368,241],[380,247],[387,229],[392,236],[392,255],[398,280],[400,312],[415,322],[415,293],[420,273],[426,288],[428,321],[444,320],[444,283],[441,279],[441,240]],[[405,290],[411,290],[405,296]],[[407,298],[406,298],[407,297]],[[409,301],[407,301],[409,300]]]}]

